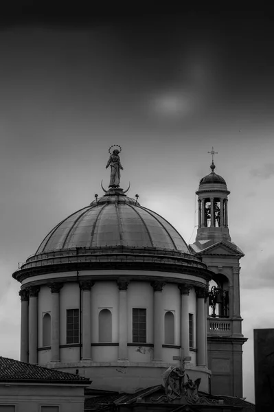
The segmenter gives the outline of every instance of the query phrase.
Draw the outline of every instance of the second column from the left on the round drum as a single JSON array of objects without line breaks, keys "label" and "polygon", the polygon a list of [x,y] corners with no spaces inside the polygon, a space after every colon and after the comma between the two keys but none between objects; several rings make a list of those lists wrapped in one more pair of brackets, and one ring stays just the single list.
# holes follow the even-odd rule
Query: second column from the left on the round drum
[{"label": "second column from the left on the round drum", "polygon": [[29,304],[29,363],[37,364],[37,299],[40,290],[39,286],[30,286]]}]

